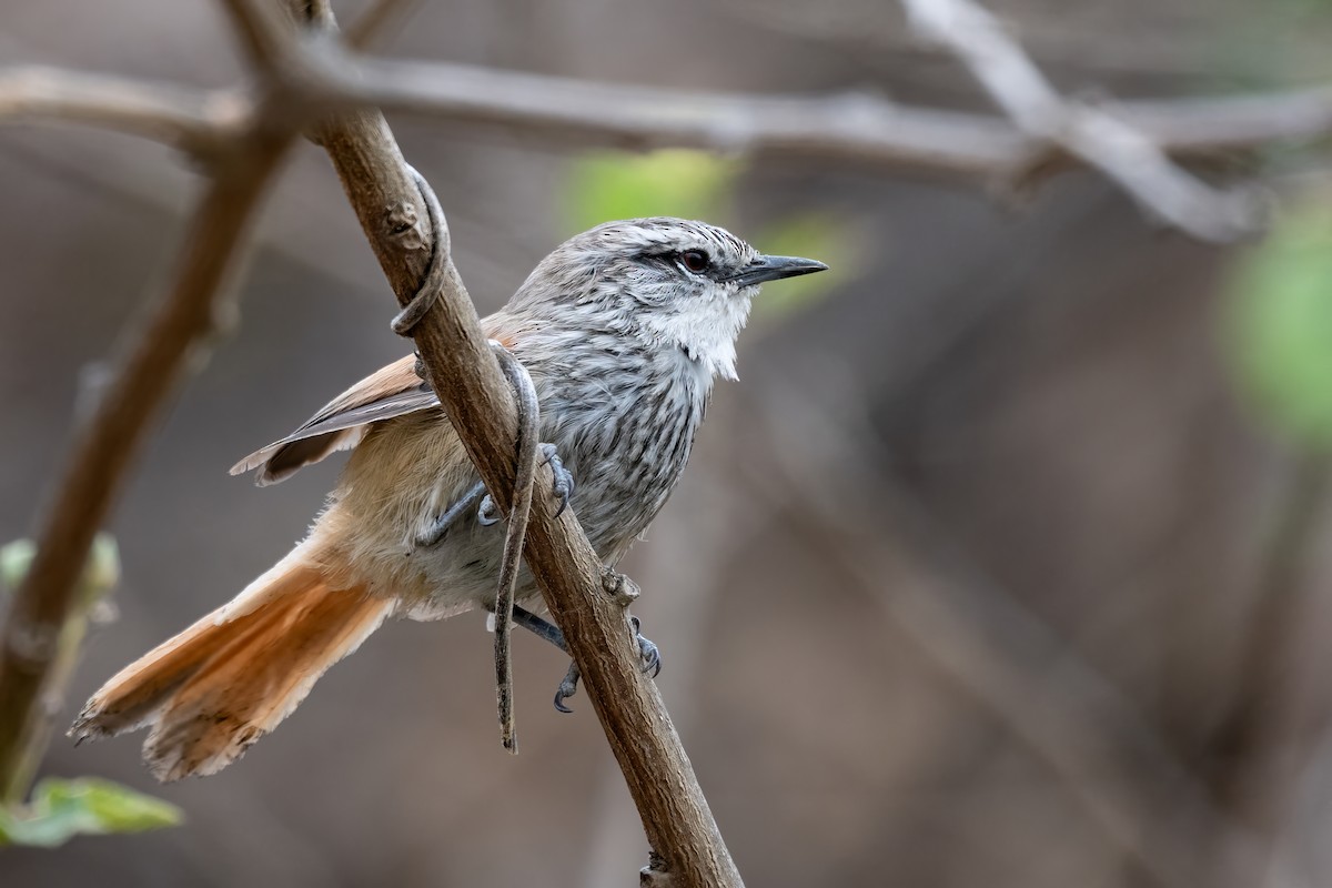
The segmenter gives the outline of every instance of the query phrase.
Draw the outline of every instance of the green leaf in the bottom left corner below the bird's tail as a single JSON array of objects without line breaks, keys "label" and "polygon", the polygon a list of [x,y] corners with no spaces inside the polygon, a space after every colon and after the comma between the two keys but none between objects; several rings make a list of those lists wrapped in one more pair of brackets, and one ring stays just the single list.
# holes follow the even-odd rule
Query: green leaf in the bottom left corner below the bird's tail
[{"label": "green leaf in the bottom left corner below the bird's tail", "polygon": [[55,848],[77,835],[173,827],[180,808],[109,780],[49,777],[17,809],[0,808],[0,844]]}]

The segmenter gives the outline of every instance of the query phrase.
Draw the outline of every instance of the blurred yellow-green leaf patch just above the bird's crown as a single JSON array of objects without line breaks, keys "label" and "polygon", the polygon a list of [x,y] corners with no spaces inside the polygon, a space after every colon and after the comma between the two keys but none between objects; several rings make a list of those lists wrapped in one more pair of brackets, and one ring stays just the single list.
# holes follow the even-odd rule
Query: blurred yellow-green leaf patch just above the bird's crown
[{"label": "blurred yellow-green leaf patch just above the bird's crown", "polygon": [[697,150],[593,152],[574,161],[566,182],[570,226],[643,216],[715,221],[727,216],[739,170],[735,160]]}]

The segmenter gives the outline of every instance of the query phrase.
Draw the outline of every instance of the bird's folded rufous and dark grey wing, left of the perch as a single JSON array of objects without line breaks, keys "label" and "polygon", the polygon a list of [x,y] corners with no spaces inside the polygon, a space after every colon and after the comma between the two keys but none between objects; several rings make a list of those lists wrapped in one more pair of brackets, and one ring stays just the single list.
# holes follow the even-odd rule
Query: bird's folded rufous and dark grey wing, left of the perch
[{"label": "bird's folded rufous and dark grey wing, left of the perch", "polygon": [[256,482],[276,485],[330,453],[350,450],[372,422],[438,405],[434,390],[416,374],[416,358],[409,354],[329,401],[292,434],[241,459],[232,466],[232,474],[260,469]]}]

